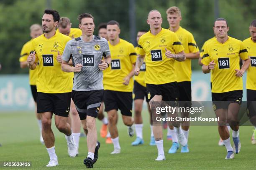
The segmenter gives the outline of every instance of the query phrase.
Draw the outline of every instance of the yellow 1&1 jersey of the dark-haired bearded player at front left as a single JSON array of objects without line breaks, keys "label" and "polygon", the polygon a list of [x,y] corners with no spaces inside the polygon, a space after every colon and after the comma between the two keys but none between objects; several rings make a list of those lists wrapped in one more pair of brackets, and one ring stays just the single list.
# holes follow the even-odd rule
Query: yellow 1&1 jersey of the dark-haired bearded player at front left
[{"label": "yellow 1&1 jersey of the dark-haired bearded player at front left", "polygon": [[64,93],[71,92],[73,86],[73,72],[63,72],[61,63],[56,59],[58,51],[63,53],[65,45],[70,37],[56,32],[53,37],[47,39],[44,34],[32,40],[31,49],[36,52],[37,65],[37,92]]}]

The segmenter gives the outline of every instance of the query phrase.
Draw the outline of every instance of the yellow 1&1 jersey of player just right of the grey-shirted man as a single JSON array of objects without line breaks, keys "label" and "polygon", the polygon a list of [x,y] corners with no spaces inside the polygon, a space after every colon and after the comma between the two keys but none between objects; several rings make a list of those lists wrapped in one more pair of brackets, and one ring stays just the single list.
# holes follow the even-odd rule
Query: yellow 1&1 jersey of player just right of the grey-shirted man
[{"label": "yellow 1&1 jersey of player just right of the grey-shirted man", "polygon": [[103,86],[104,90],[132,92],[133,77],[130,78],[128,85],[123,85],[123,79],[133,70],[137,54],[130,42],[120,38],[119,40],[116,45],[108,42],[112,61],[110,67],[103,72]]}]

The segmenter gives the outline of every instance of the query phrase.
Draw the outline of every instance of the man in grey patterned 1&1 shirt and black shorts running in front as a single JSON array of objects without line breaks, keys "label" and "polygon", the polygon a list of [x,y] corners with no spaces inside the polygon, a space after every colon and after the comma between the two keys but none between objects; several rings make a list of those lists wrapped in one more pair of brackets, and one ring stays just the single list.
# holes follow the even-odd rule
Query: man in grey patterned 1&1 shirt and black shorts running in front
[{"label": "man in grey patterned 1&1 shirt and black shorts running in front", "polygon": [[[92,15],[81,14],[78,20],[82,36],[67,42],[61,69],[64,72],[74,72],[71,97],[83,127],[87,126],[88,129],[88,155],[84,164],[87,168],[93,168],[100,148],[100,143],[97,142],[96,117],[103,97],[102,70],[109,67],[111,57],[108,41],[93,35],[95,25]],[[74,67],[68,65],[70,59]]]}]

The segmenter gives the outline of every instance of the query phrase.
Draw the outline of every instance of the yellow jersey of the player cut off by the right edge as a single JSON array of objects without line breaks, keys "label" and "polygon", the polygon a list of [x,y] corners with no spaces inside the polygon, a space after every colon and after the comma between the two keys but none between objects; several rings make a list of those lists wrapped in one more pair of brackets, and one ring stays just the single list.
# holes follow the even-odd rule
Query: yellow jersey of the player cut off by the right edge
[{"label": "yellow jersey of the player cut off by the right edge", "polygon": [[247,70],[246,89],[256,90],[256,42],[253,42],[249,37],[243,40],[243,44],[248,51],[248,56],[251,58],[251,64]]}]

